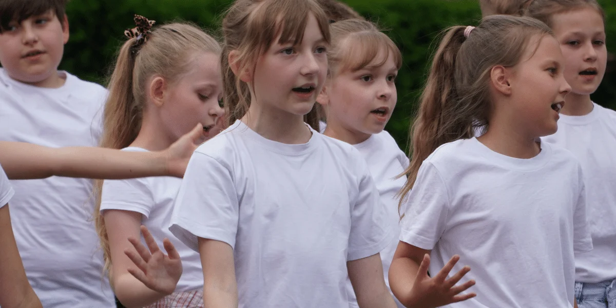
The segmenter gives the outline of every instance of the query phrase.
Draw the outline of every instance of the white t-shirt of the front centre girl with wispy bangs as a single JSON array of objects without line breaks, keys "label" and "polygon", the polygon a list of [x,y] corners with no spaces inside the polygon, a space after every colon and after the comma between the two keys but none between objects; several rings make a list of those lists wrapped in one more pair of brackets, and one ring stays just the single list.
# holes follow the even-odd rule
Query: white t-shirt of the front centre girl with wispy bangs
[{"label": "white t-shirt of the front centre girl with wispy bangs", "polygon": [[171,231],[234,249],[240,308],[348,306],[346,262],[394,237],[357,150],[311,131],[282,144],[237,121],[188,163]]}]

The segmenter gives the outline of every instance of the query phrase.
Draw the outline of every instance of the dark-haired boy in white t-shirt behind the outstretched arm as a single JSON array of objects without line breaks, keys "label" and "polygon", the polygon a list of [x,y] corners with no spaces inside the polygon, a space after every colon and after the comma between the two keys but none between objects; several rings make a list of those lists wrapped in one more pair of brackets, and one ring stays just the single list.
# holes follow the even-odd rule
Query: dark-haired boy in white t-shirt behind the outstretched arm
[{"label": "dark-haired boy in white t-shirt behind the outstretched arm", "polygon": [[[107,91],[57,70],[69,36],[65,1],[2,1],[0,16],[0,140],[96,146]],[[91,181],[50,177],[12,186],[15,240],[43,306],[113,307],[89,221]]]}]

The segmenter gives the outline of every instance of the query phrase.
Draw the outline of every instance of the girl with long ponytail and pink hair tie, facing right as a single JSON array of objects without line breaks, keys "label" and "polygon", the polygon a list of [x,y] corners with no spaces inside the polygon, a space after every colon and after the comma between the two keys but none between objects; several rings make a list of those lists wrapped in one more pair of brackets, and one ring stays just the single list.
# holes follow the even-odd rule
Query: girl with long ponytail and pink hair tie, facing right
[{"label": "girl with long ponytail and pink hair tie, facing right", "polygon": [[[445,34],[413,124],[389,270],[405,306],[575,306],[573,254],[593,246],[581,167],[538,139],[556,132],[571,89],[563,67],[534,18],[495,15]],[[476,123],[487,126],[477,138]]]}]

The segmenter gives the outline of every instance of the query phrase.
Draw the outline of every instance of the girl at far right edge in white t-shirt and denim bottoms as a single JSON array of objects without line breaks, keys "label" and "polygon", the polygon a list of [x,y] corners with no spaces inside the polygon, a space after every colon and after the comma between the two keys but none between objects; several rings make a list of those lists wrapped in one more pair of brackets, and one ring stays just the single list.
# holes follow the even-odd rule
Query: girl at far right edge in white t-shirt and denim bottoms
[{"label": "girl at far right edge in white t-shirt and denim bottoms", "polygon": [[616,307],[616,112],[590,98],[606,72],[604,13],[594,0],[536,0],[528,14],[554,31],[572,89],[543,140],[570,150],[585,174],[594,249],[575,256],[575,297],[579,307]]}]

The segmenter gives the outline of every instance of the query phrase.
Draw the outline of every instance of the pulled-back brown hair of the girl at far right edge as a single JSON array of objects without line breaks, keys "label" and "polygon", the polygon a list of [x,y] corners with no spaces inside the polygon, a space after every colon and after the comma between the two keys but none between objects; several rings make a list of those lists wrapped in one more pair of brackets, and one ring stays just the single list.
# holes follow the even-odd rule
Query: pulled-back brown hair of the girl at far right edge
[{"label": "pulled-back brown hair of the girl at far right edge", "polygon": [[524,15],[537,18],[551,28],[553,15],[585,7],[597,10],[605,22],[606,13],[596,0],[533,0],[524,10]]}]

